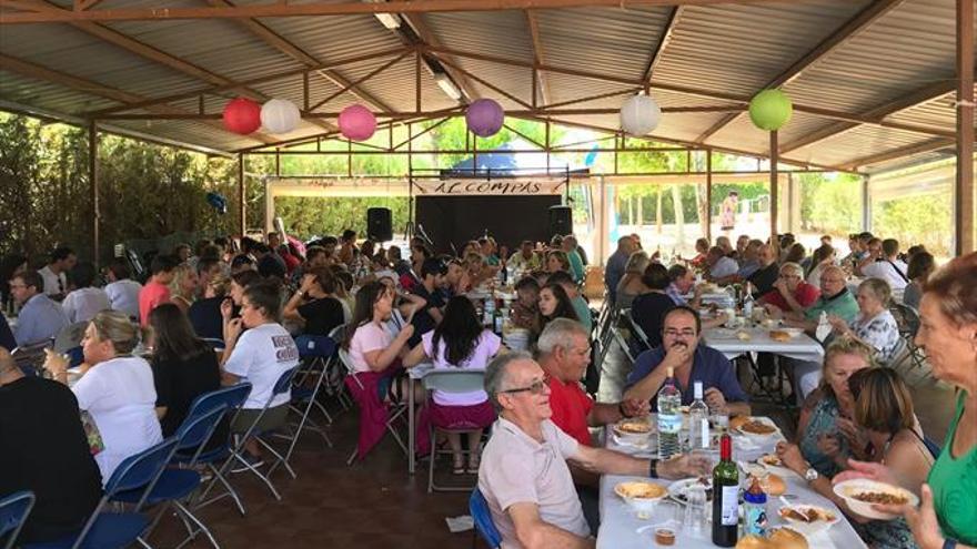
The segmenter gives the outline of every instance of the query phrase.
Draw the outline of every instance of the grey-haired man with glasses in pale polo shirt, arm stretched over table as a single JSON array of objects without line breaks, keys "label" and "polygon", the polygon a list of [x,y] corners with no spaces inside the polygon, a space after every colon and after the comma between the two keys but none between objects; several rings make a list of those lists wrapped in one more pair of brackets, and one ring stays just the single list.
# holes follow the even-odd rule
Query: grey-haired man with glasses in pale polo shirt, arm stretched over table
[{"label": "grey-haired man with glasses in pale polo shirt, arm stretched over table", "polygon": [[485,392],[501,410],[482,453],[479,489],[505,548],[593,548],[566,461],[593,472],[684,478],[706,474],[702,456],[638,459],[583,446],[550,419],[546,374],[526,353],[495,357]]}]

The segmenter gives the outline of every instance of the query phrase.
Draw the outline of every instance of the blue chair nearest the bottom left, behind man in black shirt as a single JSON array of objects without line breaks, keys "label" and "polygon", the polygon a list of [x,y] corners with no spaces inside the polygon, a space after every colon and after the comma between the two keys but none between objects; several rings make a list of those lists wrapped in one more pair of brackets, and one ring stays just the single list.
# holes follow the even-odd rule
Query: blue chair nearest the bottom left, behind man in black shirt
[{"label": "blue chair nearest the bottom left, behind man in black shirt", "polygon": [[141,512],[102,511],[118,494],[139,490],[137,508],[152,490],[177,449],[177,437],[170,437],[134,456],[129,456],[105,484],[104,495],[84,527],[77,535],[57,541],[29,543],[24,549],[123,549],[139,540],[149,528],[149,519]]}]

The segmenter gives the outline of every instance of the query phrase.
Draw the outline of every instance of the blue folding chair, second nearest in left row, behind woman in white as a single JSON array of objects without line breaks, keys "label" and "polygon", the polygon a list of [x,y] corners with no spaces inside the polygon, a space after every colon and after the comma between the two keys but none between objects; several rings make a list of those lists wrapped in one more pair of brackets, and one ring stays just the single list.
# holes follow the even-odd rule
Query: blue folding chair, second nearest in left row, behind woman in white
[{"label": "blue folding chair, second nearest in left row, behind woman in white", "polygon": [[[141,490],[127,490],[117,494],[112,498],[112,501],[138,504],[142,498],[144,505],[167,504],[167,507],[160,509],[155,520],[153,520],[152,527],[149,528],[149,531],[152,531],[153,527],[155,527],[160,518],[162,518],[167,508],[172,505],[177,508],[177,516],[183,521],[183,525],[188,530],[188,537],[177,547],[183,547],[187,542],[192,541],[199,532],[203,532],[214,549],[220,549],[220,546],[211,531],[187,506],[184,506],[184,502],[189,501],[190,496],[201,485],[200,472],[194,470],[193,467],[197,465],[197,458],[200,457],[204,445],[207,445],[213,436],[218,424],[224,417],[226,410],[228,408],[225,406],[213,408],[208,411],[197,411],[195,414],[192,410],[177,431],[177,451],[192,451],[192,458],[190,461],[185,462],[185,468],[163,469],[159,480],[157,480],[155,485],[144,498],[142,498],[142,495],[140,494]],[[141,507],[138,507],[135,510],[140,511],[142,509]],[[188,521],[197,525],[197,529],[194,530]]]}]

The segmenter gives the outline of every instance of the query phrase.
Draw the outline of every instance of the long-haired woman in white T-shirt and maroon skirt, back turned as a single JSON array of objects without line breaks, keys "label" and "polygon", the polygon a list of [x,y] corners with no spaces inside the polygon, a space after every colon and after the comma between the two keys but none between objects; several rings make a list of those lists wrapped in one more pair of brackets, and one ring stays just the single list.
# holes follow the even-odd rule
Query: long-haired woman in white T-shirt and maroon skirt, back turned
[{"label": "long-haired woman in white T-shirt and maroon skirt, back turned", "polygon": [[[484,369],[488,360],[502,348],[502,340],[491,331],[482,327],[472,302],[464,296],[449,299],[444,309],[444,321],[421,337],[404,357],[404,365],[414,366],[431,359],[435,368]],[[470,475],[479,472],[479,443],[482,429],[495,420],[495,411],[484,390],[472,393],[433,392],[431,396],[431,421],[445,429],[477,429],[469,433]],[[454,453],[454,474],[465,472],[461,436],[447,434],[447,441]]]}]

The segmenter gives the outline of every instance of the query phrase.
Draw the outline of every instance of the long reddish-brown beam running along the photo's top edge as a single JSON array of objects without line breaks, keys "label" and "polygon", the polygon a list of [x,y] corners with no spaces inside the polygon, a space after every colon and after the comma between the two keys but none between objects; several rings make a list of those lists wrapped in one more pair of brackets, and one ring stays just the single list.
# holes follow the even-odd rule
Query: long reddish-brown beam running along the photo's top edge
[{"label": "long reddish-brown beam running along the photo's top edge", "polygon": [[[751,3],[782,3],[783,0],[747,0]],[[0,8],[18,9],[21,0],[0,0]],[[555,8],[633,6],[713,6],[729,0],[411,0],[407,2],[333,2],[326,0],[308,3],[289,3],[281,0],[265,1],[233,8],[179,7],[179,8],[118,8],[74,11],[57,9],[44,12],[0,13],[0,24],[53,23],[71,21],[151,21],[180,19],[248,19],[261,17],[348,16],[373,13],[425,13],[439,11],[498,11]]]}]

